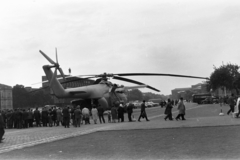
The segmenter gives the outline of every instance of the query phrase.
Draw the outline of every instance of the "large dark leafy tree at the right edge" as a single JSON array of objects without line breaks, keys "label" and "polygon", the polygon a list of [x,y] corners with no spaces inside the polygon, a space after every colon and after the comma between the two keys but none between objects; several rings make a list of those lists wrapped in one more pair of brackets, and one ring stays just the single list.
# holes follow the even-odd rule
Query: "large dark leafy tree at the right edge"
[{"label": "large dark leafy tree at the right edge", "polygon": [[213,90],[226,87],[227,90],[235,89],[239,94],[240,73],[238,70],[239,66],[233,64],[223,64],[219,68],[214,67],[214,72],[207,83]]}]

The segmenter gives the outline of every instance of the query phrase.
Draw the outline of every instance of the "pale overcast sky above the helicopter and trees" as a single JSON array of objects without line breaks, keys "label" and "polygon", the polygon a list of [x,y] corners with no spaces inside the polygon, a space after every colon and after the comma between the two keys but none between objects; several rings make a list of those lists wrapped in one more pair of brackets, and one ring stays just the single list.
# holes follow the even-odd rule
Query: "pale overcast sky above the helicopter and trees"
[{"label": "pale overcast sky above the helicopter and trees", "polygon": [[[210,77],[239,64],[240,1],[9,0],[0,5],[0,83],[39,87],[42,50],[65,74],[166,73]],[[202,79],[125,77],[171,94]],[[113,83],[132,86],[122,81]]]}]

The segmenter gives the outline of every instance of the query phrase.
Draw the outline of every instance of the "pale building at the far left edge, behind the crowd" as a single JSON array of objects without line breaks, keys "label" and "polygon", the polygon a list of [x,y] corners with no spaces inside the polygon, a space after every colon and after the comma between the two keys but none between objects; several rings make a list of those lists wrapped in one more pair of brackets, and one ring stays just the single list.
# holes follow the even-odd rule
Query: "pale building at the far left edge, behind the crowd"
[{"label": "pale building at the far left edge, behind the crowd", "polygon": [[11,86],[0,84],[0,109],[13,109]]}]

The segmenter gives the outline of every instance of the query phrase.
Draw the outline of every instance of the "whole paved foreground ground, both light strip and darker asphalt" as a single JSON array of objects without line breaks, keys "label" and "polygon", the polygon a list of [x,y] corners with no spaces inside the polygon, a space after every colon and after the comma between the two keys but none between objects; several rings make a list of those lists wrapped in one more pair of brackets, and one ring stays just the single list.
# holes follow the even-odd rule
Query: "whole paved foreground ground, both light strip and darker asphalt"
[{"label": "whole paved foreground ground, both light strip and darker asphalt", "polygon": [[[186,104],[186,121],[165,121],[160,107],[150,122],[6,130],[0,159],[238,159],[240,120],[219,116],[219,105]],[[228,106],[222,107],[227,112]],[[176,108],[173,109],[176,116]],[[136,118],[139,110],[134,110]],[[125,120],[126,117],[125,117]],[[231,136],[229,136],[231,135]],[[161,143],[160,143],[161,142]],[[239,153],[238,153],[239,152]]]}]

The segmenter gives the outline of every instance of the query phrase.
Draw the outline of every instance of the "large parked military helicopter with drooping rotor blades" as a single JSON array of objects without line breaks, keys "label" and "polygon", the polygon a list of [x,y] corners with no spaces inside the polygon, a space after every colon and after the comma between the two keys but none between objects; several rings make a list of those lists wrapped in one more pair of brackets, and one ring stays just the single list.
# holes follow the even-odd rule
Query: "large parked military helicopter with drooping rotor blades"
[{"label": "large parked military helicopter with drooping rotor blades", "polygon": [[[174,75],[174,74],[159,74],[159,73],[118,73],[118,74],[93,74],[93,75],[78,75],[78,76],[68,76],[66,77],[63,73],[63,70],[60,68],[58,63],[58,56],[57,56],[57,49],[56,49],[56,62],[54,62],[51,58],[49,58],[44,52],[39,50],[39,52],[52,64],[52,65],[44,65],[43,70],[46,74],[46,77],[49,82],[49,86],[52,89],[53,93],[58,98],[76,98],[78,101],[81,100],[97,100],[98,104],[103,106],[104,108],[108,108],[109,104],[106,100],[109,97],[110,93],[113,93],[115,96],[124,94],[124,91],[127,89],[134,89],[134,88],[149,88],[154,91],[160,92],[160,90],[146,85],[144,83],[125,78],[123,76],[174,76],[174,77],[186,77],[186,78],[200,78],[200,79],[208,79],[205,77],[195,77],[195,76],[186,76],[186,75]],[[53,72],[51,69],[55,68]],[[59,79],[57,79],[57,71],[60,72],[64,82],[68,83],[71,81],[67,81],[66,79],[70,77],[78,77],[79,79],[90,79],[90,78],[98,78],[94,84],[76,88],[64,88]],[[137,84],[137,86],[118,86],[116,84],[111,83],[108,79],[116,79],[120,81],[130,82]],[[121,97],[121,96],[120,96]]]}]

